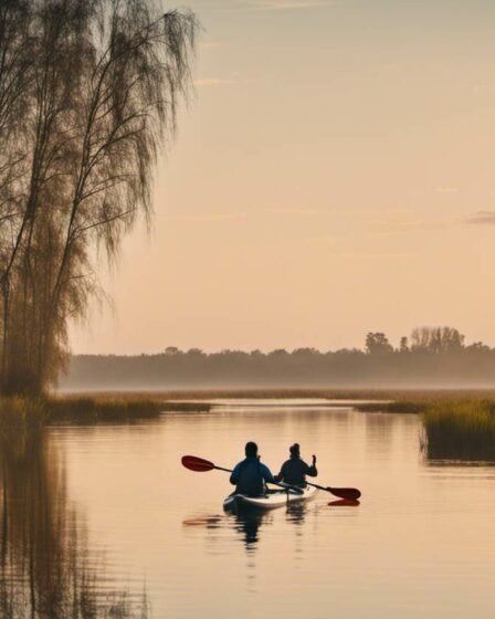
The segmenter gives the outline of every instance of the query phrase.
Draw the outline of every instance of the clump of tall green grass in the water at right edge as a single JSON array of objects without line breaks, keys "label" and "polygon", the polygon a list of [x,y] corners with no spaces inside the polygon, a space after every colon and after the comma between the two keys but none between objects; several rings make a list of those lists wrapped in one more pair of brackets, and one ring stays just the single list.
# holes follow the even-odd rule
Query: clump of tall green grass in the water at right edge
[{"label": "clump of tall green grass in the water at right edge", "polygon": [[495,401],[432,403],[423,420],[429,458],[495,461]]}]

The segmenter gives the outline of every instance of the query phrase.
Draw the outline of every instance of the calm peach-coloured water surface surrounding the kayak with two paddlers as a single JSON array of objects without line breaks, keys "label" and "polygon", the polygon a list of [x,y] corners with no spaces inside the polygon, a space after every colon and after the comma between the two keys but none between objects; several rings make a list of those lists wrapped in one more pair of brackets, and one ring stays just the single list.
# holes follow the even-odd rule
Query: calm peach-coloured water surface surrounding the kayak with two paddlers
[{"label": "calm peach-coloured water surface surrounding the kayak with two paddlers", "polygon": [[[2,617],[492,618],[495,469],[428,463],[420,434],[415,416],[272,401],[10,444]],[[272,471],[299,442],[361,504],[224,515],[227,474],[180,457],[230,468],[246,440]]]}]

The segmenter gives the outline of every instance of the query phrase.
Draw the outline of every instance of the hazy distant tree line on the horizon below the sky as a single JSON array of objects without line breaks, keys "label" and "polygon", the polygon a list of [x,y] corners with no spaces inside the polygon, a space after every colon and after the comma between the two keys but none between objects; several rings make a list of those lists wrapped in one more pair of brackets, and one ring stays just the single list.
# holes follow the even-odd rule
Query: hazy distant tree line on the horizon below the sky
[{"label": "hazy distant tree line on the horizon below the sky", "polygon": [[380,332],[364,349],[315,348],[182,352],[156,355],[77,355],[63,389],[166,389],[225,387],[489,387],[495,348],[465,345],[451,327],[420,327],[393,347]]}]

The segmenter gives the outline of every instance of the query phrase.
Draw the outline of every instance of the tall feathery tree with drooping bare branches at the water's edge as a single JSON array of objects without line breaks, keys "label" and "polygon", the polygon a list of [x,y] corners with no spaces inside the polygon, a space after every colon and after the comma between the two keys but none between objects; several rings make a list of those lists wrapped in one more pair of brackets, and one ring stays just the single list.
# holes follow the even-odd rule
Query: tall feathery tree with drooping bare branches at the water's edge
[{"label": "tall feathery tree with drooping bare branches at the water's edge", "polygon": [[148,0],[0,3],[1,389],[41,392],[71,318],[149,221],[157,155],[187,97],[197,22]]}]

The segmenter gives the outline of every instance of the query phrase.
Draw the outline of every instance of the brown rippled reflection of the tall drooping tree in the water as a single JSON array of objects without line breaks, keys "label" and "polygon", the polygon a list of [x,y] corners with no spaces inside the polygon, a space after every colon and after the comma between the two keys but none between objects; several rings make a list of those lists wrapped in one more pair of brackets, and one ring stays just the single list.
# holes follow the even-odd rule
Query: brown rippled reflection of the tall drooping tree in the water
[{"label": "brown rippled reflection of the tall drooping tree in the water", "polygon": [[103,558],[88,548],[63,462],[43,429],[4,433],[0,461],[0,616],[146,618],[146,596],[102,588]]}]

